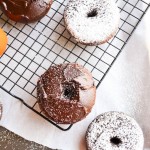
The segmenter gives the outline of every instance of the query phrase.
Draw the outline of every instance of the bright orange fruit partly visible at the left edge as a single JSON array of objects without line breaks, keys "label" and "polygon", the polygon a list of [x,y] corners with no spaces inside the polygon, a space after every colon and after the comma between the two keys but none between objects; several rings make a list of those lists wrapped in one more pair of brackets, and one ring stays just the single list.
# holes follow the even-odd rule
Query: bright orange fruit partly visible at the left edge
[{"label": "bright orange fruit partly visible at the left edge", "polygon": [[8,43],[7,35],[6,33],[0,28],[0,57],[3,55],[3,53],[6,50]]}]

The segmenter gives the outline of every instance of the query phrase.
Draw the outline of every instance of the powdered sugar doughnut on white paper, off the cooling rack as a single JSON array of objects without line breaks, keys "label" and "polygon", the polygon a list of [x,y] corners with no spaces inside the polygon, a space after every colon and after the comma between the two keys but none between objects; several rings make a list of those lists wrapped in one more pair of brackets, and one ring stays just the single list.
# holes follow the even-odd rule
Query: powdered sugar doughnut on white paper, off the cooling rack
[{"label": "powdered sugar doughnut on white paper, off the cooling rack", "polygon": [[122,112],[96,117],[86,132],[88,150],[143,150],[143,132],[137,122]]}]

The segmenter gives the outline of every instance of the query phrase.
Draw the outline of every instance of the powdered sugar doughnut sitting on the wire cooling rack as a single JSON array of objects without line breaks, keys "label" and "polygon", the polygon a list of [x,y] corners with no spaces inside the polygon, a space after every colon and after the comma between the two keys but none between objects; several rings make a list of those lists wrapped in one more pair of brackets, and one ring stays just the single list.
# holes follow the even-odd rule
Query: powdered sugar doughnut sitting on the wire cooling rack
[{"label": "powdered sugar doughnut sitting on the wire cooling rack", "polygon": [[79,43],[100,45],[111,39],[119,26],[114,0],[70,0],[64,12],[67,30]]}]

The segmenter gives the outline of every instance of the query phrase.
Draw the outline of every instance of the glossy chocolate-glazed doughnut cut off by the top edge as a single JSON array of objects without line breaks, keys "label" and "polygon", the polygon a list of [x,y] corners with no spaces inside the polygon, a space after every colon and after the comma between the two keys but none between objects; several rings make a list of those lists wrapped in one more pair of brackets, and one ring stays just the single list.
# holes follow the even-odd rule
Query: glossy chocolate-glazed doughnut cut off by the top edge
[{"label": "glossy chocolate-glazed doughnut cut off by the top edge", "polygon": [[40,20],[49,11],[52,0],[1,0],[0,7],[13,21],[28,23]]}]

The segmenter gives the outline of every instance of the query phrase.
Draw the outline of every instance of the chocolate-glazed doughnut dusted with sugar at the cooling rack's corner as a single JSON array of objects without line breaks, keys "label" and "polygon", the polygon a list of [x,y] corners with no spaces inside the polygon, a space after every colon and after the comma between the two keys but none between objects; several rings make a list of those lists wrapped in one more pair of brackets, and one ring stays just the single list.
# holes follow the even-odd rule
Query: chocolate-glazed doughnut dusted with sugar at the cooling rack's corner
[{"label": "chocolate-glazed doughnut dusted with sugar at the cooling rack's corner", "polygon": [[72,124],[85,118],[95,103],[91,73],[75,63],[50,67],[38,80],[38,103],[56,123]]}]

